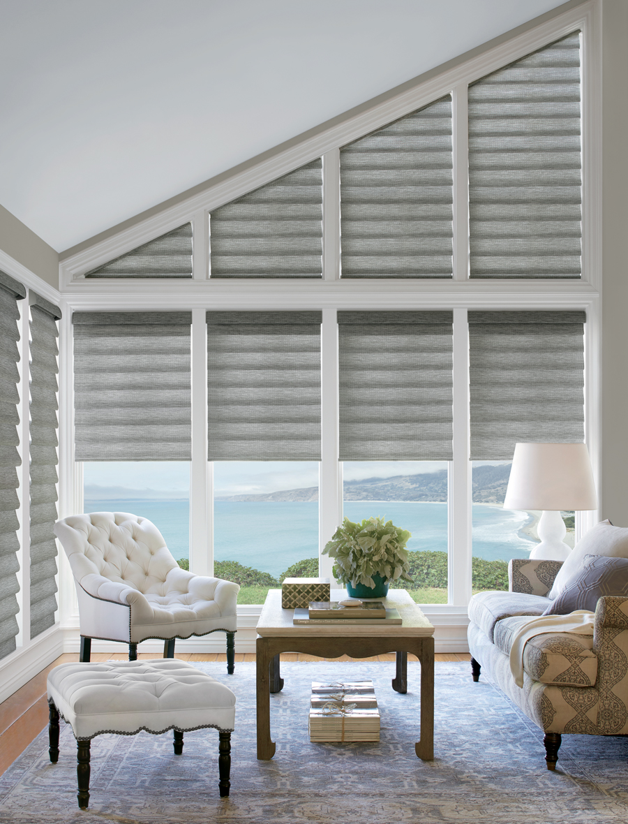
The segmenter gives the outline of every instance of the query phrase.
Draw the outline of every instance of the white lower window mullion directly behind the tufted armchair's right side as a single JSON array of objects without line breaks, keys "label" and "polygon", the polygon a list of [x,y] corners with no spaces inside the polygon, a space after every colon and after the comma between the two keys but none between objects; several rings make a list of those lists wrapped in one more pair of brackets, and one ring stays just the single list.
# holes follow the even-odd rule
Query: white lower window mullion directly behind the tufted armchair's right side
[{"label": "white lower window mullion directly behind the tufted armchair's right side", "polygon": [[189,493],[189,565],[212,575],[213,490],[207,461],[207,323],[205,309],[192,310],[192,460]]}]

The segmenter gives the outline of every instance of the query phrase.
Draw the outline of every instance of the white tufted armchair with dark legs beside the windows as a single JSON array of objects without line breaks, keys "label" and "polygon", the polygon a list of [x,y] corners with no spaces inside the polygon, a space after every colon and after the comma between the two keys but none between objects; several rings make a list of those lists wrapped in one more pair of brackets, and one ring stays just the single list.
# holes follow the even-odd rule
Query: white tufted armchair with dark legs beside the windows
[{"label": "white tufted armchair with dark legs beside the windows", "polygon": [[81,620],[81,661],[91,639],[123,641],[129,661],[137,644],[163,639],[174,658],[174,639],[222,631],[227,672],[234,671],[236,603],[240,586],[179,568],[157,527],[129,513],[90,513],[54,525],[70,560]]}]

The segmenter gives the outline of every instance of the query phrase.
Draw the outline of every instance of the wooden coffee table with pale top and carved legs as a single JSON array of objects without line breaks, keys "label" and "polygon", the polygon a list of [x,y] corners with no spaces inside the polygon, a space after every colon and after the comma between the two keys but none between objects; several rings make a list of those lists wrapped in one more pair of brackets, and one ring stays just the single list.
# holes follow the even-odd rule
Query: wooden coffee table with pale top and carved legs
[{"label": "wooden coffee table with pale top and carved legs", "polygon": [[[342,601],[347,592],[332,591],[332,598]],[[372,655],[397,653],[397,672],[393,690],[407,691],[407,653],[421,662],[421,739],[415,744],[416,755],[424,761],[434,758],[434,627],[423,615],[405,589],[391,589],[384,601],[396,608],[402,625],[318,624],[294,625],[294,610],[281,609],[281,589],[268,591],[258,620],[257,699],[258,759],[269,761],[275,755],[270,733],[270,694],[279,692],[283,678],[279,672],[280,653],[309,653],[321,658],[370,658]]]}]

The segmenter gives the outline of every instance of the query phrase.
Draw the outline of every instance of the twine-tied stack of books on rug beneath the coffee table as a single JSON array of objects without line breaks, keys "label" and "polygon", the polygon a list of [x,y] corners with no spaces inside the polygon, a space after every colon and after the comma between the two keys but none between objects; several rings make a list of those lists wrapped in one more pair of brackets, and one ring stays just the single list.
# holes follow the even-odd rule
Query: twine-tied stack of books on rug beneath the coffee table
[{"label": "twine-tied stack of books on rug beneath the coffee table", "polygon": [[313,742],[379,741],[379,709],[373,681],[314,681],[309,707]]}]

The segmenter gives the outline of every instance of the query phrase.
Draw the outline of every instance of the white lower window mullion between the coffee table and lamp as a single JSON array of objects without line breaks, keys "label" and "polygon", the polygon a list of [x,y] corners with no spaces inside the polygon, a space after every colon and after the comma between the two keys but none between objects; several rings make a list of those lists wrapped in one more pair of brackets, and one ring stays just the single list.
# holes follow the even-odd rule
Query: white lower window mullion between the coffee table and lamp
[{"label": "white lower window mullion between the coffee table and lamp", "polygon": [[454,309],[454,460],[449,469],[449,604],[471,597],[471,462],[467,310]]}]

